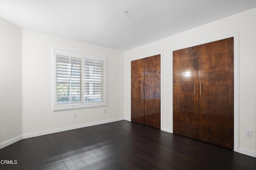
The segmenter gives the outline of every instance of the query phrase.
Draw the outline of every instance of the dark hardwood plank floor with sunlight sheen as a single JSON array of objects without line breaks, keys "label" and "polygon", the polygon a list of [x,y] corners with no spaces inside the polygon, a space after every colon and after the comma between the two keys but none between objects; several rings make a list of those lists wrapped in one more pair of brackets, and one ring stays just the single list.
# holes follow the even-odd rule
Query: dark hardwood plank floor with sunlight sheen
[{"label": "dark hardwood plank floor with sunlight sheen", "polygon": [[129,121],[23,139],[0,160],[17,160],[0,170],[256,169],[254,157]]}]

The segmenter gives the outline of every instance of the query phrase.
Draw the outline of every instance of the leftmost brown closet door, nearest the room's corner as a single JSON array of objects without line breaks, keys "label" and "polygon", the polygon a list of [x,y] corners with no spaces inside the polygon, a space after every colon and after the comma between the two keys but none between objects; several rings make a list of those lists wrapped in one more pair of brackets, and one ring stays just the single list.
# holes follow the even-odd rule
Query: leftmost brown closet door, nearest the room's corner
[{"label": "leftmost brown closet door, nearest the room's corner", "polygon": [[144,125],[144,59],[131,62],[131,121]]}]

